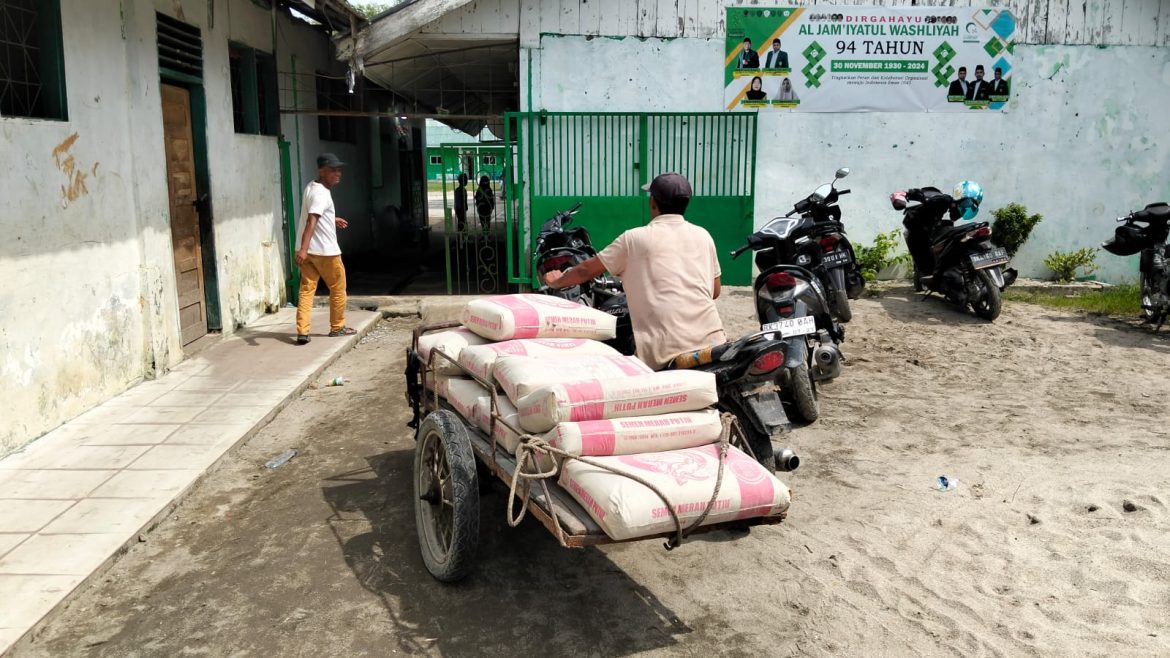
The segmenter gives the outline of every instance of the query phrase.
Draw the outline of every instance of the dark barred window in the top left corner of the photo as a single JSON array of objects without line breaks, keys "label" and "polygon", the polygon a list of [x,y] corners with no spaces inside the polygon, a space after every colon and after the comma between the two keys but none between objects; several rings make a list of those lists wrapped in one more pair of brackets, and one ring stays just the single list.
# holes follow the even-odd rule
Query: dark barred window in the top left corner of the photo
[{"label": "dark barred window in the top left corner of the photo", "polygon": [[60,0],[0,0],[0,116],[68,119]]}]

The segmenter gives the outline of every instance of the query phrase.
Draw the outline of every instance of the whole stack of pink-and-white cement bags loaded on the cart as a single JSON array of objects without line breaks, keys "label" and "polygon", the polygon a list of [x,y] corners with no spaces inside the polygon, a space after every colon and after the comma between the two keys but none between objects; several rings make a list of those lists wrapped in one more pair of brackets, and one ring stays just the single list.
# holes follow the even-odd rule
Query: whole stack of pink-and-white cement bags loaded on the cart
[{"label": "whole stack of pink-and-white cement bags loaded on the cart", "polygon": [[[707,509],[718,469],[723,425],[715,376],[653,372],[641,361],[599,342],[615,318],[545,295],[501,295],[472,301],[462,328],[419,340],[429,358],[439,349],[467,372],[503,391],[497,412],[508,425],[572,455],[655,485],[683,526]],[[464,419],[515,453],[521,434],[493,421],[490,392],[463,370],[439,364],[426,382]],[[545,459],[542,469],[553,464]],[[662,499],[635,480],[564,459],[560,485],[615,540],[675,529]],[[787,488],[731,447],[720,494],[703,523],[771,516],[789,506]]]}]

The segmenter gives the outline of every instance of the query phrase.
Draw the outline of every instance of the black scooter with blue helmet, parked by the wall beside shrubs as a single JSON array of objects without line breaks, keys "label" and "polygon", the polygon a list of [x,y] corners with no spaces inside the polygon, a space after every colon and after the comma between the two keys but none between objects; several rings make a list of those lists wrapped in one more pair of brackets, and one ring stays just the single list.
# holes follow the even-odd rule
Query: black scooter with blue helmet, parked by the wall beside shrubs
[{"label": "black scooter with blue helmet, parked by the wall beside shrubs", "polygon": [[[914,204],[910,205],[909,203]],[[952,194],[922,187],[890,194],[903,211],[906,246],[914,259],[914,289],[938,293],[959,308],[968,304],[986,321],[999,317],[1000,293],[1016,282],[1016,270],[1002,266],[1007,251],[991,244],[991,226],[970,222],[983,203],[978,183],[964,180]]]}]

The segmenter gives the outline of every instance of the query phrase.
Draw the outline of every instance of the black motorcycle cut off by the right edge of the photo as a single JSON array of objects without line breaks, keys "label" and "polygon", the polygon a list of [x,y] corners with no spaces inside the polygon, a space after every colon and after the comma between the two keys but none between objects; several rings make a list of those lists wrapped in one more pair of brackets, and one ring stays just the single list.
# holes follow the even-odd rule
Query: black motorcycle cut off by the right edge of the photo
[{"label": "black motorcycle cut off by the right edge of the photo", "polygon": [[[1119,256],[1141,253],[1142,321],[1162,328],[1170,314],[1170,205],[1149,204],[1144,208],[1119,217],[1124,222],[1114,231],[1114,237],[1101,245],[1104,251]],[[1144,225],[1144,226],[1141,226]]]}]

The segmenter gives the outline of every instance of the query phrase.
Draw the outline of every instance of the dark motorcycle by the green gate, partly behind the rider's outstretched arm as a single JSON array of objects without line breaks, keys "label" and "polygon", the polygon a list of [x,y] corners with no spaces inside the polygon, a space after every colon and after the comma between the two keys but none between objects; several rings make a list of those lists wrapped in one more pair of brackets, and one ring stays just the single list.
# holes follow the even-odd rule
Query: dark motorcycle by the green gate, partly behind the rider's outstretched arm
[{"label": "dark motorcycle by the green gate, partly behind the rider's outstretched arm", "polygon": [[[541,281],[549,272],[555,269],[566,272],[597,255],[589,231],[584,226],[565,229],[580,207],[581,204],[578,201],[573,207],[556,213],[541,226],[541,231],[536,235],[536,249],[532,256],[534,268]],[[615,316],[618,318],[618,337],[606,341],[606,343],[624,355],[632,356],[634,354],[634,329],[629,324],[629,307],[626,303],[626,293],[620,279],[606,273],[580,286],[558,290],[546,288],[543,292]]]}]

